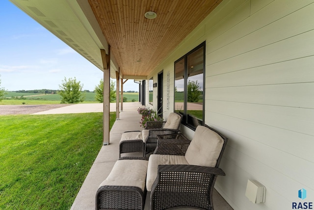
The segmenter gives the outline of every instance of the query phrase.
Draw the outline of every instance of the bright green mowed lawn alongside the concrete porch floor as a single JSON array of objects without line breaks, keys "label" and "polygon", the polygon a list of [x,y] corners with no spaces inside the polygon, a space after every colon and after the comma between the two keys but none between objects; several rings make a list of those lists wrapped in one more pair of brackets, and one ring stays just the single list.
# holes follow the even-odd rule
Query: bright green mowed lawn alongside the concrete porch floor
[{"label": "bright green mowed lawn alongside the concrete porch floor", "polygon": [[70,209],[102,147],[103,113],[3,115],[0,128],[0,209]]}]

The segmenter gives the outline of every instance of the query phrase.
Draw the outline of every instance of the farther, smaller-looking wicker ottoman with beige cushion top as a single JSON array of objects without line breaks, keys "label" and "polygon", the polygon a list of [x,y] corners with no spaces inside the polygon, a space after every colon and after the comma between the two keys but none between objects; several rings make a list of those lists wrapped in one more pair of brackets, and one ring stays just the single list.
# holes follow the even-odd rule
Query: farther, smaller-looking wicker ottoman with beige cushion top
[{"label": "farther, smaller-looking wicker ottoman with beige cushion top", "polygon": [[119,158],[121,153],[143,152],[144,157],[144,142],[142,131],[127,131],[122,133],[119,145]]}]

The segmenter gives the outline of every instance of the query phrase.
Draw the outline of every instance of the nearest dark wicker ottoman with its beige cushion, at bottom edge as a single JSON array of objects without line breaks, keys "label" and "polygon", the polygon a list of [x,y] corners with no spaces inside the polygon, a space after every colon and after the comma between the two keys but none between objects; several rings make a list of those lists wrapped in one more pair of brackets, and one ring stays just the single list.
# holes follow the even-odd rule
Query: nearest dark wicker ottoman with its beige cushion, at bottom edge
[{"label": "nearest dark wicker ottoman with its beige cushion, at bottom edge", "polygon": [[115,163],[97,190],[96,210],[144,210],[148,158],[135,158]]}]

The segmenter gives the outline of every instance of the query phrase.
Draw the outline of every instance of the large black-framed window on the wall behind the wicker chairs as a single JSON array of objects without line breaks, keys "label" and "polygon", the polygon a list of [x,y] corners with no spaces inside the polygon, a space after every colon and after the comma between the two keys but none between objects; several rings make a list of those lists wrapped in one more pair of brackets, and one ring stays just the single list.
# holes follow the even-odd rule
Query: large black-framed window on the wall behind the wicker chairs
[{"label": "large black-framed window on the wall behind the wicker chairs", "polygon": [[204,76],[205,42],[175,62],[175,111],[192,129],[204,124]]}]

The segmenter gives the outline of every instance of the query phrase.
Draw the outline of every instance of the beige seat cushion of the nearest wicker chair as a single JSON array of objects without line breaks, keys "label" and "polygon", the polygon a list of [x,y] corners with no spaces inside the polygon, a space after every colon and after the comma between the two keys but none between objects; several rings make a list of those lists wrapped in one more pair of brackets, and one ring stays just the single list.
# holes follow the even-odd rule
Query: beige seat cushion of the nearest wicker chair
[{"label": "beige seat cushion of the nearest wicker chair", "polygon": [[146,188],[147,191],[151,191],[152,185],[157,178],[158,165],[176,165],[176,164],[188,164],[184,156],[172,156],[172,155],[151,155],[148,161],[147,176],[146,176]]}]

